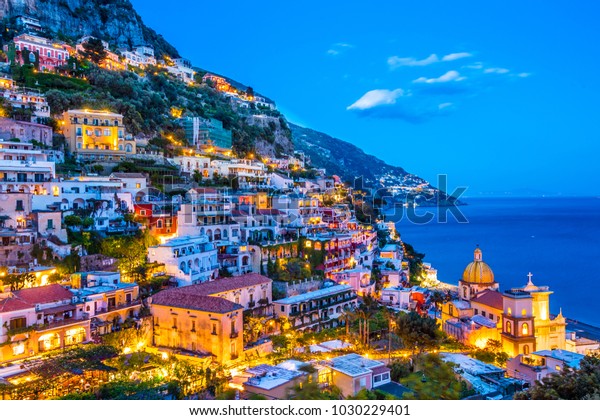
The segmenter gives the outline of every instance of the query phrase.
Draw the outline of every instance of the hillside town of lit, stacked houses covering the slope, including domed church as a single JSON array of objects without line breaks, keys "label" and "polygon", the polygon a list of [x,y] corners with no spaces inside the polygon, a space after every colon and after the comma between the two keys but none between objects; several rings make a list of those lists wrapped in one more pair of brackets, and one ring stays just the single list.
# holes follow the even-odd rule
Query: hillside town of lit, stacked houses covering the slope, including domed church
[{"label": "hillside town of lit, stacked houses covering the slope, including domed church", "polygon": [[241,153],[222,116],[173,107],[158,150],[129,113],[57,112],[15,74],[160,73],[282,125],[187,59],[19,22],[0,63],[0,399],[512,399],[600,349],[544,279],[502,289],[477,246],[441,282],[373,191],[301,152]]}]

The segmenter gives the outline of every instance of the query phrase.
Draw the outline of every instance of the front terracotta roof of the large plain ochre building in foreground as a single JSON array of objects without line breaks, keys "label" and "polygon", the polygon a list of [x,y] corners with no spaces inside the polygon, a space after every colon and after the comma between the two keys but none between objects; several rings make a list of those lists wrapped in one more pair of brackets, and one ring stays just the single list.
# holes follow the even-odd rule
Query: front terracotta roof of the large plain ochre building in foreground
[{"label": "front terracotta roof of the large plain ochre building in foreground", "polygon": [[244,309],[242,305],[214,296],[187,294],[186,287],[168,289],[152,297],[152,305],[172,306],[202,312],[225,314]]}]

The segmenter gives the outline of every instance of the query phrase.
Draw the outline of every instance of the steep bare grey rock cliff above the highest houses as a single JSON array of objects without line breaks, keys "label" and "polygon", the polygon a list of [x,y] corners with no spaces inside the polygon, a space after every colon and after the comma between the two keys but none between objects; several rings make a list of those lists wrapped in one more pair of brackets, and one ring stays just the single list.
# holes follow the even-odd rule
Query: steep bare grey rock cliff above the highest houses
[{"label": "steep bare grey rock cliff above the highest houses", "polygon": [[113,47],[152,45],[156,55],[179,57],[177,49],[144,25],[129,0],[0,0],[4,26],[15,27],[17,16],[40,20],[51,35],[77,40],[94,35]]}]

